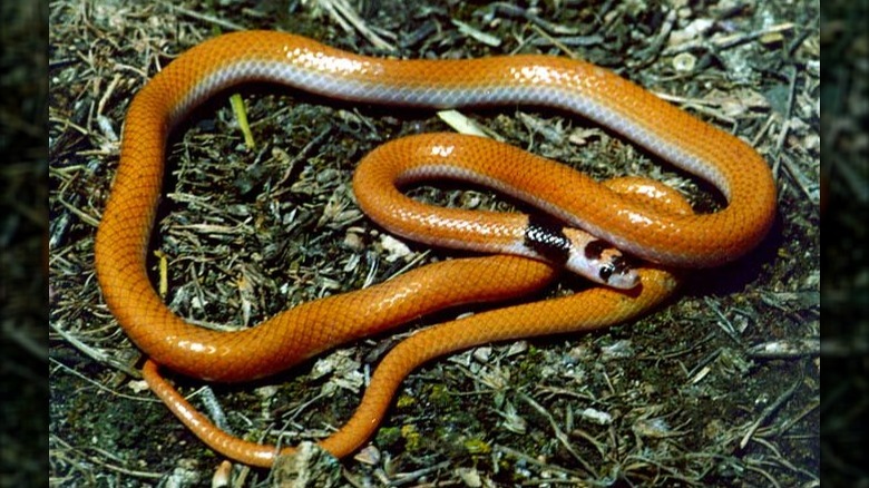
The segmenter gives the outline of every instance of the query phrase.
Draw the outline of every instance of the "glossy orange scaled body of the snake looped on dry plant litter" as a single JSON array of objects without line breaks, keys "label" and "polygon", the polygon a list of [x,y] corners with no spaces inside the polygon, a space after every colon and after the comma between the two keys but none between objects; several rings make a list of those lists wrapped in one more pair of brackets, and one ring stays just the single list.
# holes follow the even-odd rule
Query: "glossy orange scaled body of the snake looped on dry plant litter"
[{"label": "glossy orange scaled body of the snake looped on dry plant litter", "polygon": [[[488,176],[478,172],[497,172],[505,168],[508,158],[516,158],[502,172],[509,180],[495,183],[496,189],[525,197],[661,267],[637,270],[639,284],[627,291],[593,287],[570,296],[478,313],[411,335],[381,361],[348,423],[321,441],[338,457],[353,452],[371,436],[400,382],[419,364],[481,343],[585,331],[628,320],[673,292],[676,280],[665,267],[706,267],[735,260],[763,238],[774,218],[774,182],[756,152],[586,62],[546,56],[375,59],[265,31],[231,33],[203,42],[155,76],[129,106],[120,163],[97,233],[96,270],[110,311],[149,357],[144,375],[150,388],[203,441],[241,462],[271,466],[279,453],[292,448],[279,452],[273,446],[221,431],[159,375],[158,364],[206,380],[261,378],[436,310],[527,295],[550,283],[558,267],[507,255],[457,258],[364,290],[305,303],[243,331],[215,332],[187,324],[164,305],[146,266],[167,137],[206,98],[253,80],[369,104],[431,108],[521,104],[576,113],[711,182],[728,199],[720,212],[697,215],[687,212],[677,194],[661,184],[634,179],[622,182],[621,188],[616,188],[621,183],[601,185],[519,149],[467,136],[421,135],[375,149],[360,164],[360,169],[371,165],[368,173],[360,170],[354,176],[357,198],[380,225],[401,235],[426,238],[427,232],[449,234],[458,226],[455,235],[432,240],[462,245],[452,241],[468,228],[500,238],[497,228],[486,227],[490,218],[499,216],[471,213],[462,216],[470,218],[469,223],[459,223],[419,203],[419,208],[411,211],[398,208],[409,199],[394,185],[427,177],[430,167],[461,167],[469,160],[481,162],[480,167],[459,169],[458,176],[488,184]],[[530,186],[519,187],[525,179]],[[661,194],[674,203],[657,204],[654,196]],[[520,225],[530,225],[528,217],[505,218],[525,218]]]}]

